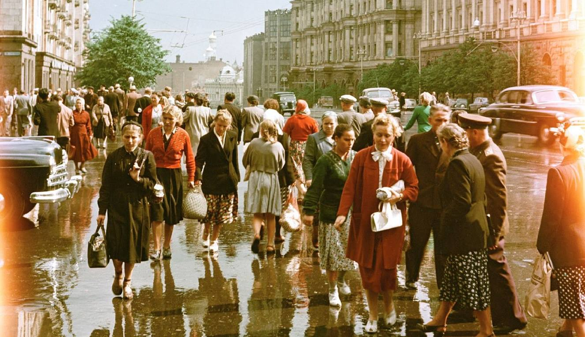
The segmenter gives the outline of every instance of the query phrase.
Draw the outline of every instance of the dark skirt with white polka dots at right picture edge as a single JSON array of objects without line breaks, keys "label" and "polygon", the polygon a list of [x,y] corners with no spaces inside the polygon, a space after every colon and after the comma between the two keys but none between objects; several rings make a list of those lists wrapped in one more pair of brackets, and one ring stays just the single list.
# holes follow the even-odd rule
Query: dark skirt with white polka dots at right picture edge
[{"label": "dark skirt with white polka dots at right picture edge", "polygon": [[555,270],[559,283],[559,317],[585,318],[585,266]]}]

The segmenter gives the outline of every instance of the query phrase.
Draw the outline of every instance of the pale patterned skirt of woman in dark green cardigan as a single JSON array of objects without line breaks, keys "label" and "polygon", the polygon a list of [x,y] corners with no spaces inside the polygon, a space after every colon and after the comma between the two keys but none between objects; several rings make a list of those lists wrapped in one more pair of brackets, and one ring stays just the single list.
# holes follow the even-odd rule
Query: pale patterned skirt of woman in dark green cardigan
[{"label": "pale patterned skirt of woman in dark green cardigan", "polygon": [[342,230],[338,231],[333,223],[319,222],[319,255],[321,262],[319,267],[326,270],[355,270],[357,263],[345,257],[347,250],[347,238],[349,236],[349,222],[347,216]]}]

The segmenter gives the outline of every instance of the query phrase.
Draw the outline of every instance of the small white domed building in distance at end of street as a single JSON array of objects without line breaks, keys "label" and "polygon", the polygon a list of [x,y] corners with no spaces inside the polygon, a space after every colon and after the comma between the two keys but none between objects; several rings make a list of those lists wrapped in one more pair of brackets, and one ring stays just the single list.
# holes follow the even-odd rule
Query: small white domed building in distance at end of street
[{"label": "small white domed building in distance at end of street", "polygon": [[[235,63],[235,62],[234,62]],[[205,92],[209,94],[209,103],[212,107],[223,104],[223,97],[226,92],[236,94],[234,104],[242,106],[244,100],[244,74],[242,68],[237,64],[223,66],[219,75],[205,81]]]}]

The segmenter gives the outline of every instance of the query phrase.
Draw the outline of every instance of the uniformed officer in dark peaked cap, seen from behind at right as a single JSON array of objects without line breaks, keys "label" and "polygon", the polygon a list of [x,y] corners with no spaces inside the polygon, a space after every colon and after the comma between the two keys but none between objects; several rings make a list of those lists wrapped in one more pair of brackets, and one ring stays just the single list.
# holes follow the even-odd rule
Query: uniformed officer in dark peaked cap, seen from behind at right
[{"label": "uniformed officer in dark peaked cap, seen from behind at right", "polygon": [[526,316],[518,301],[514,278],[504,256],[504,236],[508,232],[506,160],[494,144],[487,128],[491,119],[460,114],[459,124],[467,132],[469,152],[479,159],[486,176],[486,213],[490,215],[491,238],[488,242],[487,269],[490,275],[491,315],[494,326],[508,330],[523,329]]}]

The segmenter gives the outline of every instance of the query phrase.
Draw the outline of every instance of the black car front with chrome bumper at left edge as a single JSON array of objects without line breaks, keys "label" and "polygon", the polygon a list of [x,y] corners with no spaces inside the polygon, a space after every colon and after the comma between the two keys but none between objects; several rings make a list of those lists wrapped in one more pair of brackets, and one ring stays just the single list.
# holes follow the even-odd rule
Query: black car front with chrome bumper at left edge
[{"label": "black car front with chrome bumper at left edge", "polygon": [[0,137],[0,219],[73,197],[81,176],[69,177],[67,161],[67,152],[52,136]]}]

